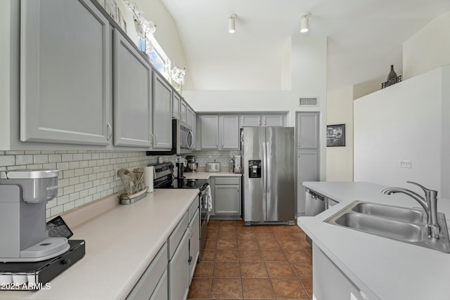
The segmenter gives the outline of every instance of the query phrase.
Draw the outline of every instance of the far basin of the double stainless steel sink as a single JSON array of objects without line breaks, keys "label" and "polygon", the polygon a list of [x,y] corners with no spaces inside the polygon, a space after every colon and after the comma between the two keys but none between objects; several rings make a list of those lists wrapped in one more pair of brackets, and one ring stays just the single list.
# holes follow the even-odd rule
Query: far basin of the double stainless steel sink
[{"label": "far basin of the double stainless steel sink", "polygon": [[360,202],[356,204],[352,207],[352,211],[411,223],[423,223],[426,222],[427,218],[427,214],[423,210],[409,209],[406,207],[392,207],[368,202]]}]

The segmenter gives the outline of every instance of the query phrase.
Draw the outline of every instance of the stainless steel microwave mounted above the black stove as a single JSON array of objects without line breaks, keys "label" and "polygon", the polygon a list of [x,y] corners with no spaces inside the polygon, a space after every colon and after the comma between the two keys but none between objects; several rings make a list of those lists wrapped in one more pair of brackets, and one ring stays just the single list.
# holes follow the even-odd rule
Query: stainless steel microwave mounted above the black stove
[{"label": "stainless steel microwave mounted above the black stove", "polygon": [[174,155],[191,153],[194,145],[191,126],[179,119],[172,119],[172,149],[147,151],[147,155]]}]

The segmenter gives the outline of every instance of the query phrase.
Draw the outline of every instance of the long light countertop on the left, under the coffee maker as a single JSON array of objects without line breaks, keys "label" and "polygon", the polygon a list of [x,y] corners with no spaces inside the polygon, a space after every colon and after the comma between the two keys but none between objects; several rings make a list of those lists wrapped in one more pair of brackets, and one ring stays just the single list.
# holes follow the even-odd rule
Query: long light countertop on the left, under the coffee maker
[{"label": "long light countertop on the left, under the coffee maker", "polygon": [[0,291],[0,299],[124,299],[197,199],[195,189],[158,189],[135,204],[114,204],[81,220],[71,227],[72,240],[86,240],[81,260],[53,278],[49,290]]}]

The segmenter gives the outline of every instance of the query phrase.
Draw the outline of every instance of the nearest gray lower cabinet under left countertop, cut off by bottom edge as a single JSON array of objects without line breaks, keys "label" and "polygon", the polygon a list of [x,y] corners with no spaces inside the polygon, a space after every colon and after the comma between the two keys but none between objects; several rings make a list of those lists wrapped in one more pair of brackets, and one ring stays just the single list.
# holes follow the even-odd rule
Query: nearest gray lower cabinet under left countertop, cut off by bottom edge
[{"label": "nearest gray lower cabinet under left countertop, cut off by bottom edge", "polygon": [[[129,300],[167,299],[159,295],[167,295],[167,243],[165,243],[153,261],[128,294]],[[156,296],[158,295],[158,296]]]}]

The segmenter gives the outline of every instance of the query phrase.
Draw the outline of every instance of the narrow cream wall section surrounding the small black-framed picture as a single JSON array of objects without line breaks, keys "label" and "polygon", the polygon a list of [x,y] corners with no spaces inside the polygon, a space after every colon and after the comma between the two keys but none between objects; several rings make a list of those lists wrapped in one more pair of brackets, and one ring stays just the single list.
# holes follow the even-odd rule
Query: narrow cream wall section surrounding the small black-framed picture
[{"label": "narrow cream wall section surrounding the small black-framed picture", "polygon": [[326,148],[326,181],[353,181],[353,87],[328,93],[327,124],[345,124],[345,147]]}]

